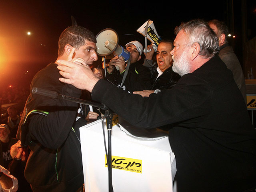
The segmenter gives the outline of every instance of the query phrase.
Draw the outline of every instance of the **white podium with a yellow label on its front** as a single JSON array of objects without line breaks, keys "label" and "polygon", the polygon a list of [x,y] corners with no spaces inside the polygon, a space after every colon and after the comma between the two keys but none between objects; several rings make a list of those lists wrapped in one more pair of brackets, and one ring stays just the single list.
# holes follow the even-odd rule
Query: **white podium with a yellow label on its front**
[{"label": "white podium with a yellow label on its front", "polygon": [[[140,129],[134,136],[127,131],[126,126],[137,132],[135,127],[126,123],[112,127],[114,192],[172,192],[176,161],[168,136],[160,134],[154,138],[154,132]],[[107,145],[106,123],[104,131]],[[143,136],[147,132],[150,137]],[[102,120],[80,127],[80,140],[85,191],[108,192]]]}]

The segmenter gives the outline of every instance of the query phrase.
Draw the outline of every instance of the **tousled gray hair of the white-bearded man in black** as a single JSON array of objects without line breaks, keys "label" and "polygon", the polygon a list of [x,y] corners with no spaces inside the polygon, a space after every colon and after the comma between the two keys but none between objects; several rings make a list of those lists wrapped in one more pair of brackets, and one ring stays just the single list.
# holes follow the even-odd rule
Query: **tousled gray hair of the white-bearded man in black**
[{"label": "tousled gray hair of the white-bearded man in black", "polygon": [[214,31],[203,20],[191,20],[186,23],[181,23],[174,30],[177,35],[178,32],[184,30],[187,36],[188,46],[198,43],[200,45],[199,55],[202,58],[212,58],[220,51],[218,44],[218,37]]}]

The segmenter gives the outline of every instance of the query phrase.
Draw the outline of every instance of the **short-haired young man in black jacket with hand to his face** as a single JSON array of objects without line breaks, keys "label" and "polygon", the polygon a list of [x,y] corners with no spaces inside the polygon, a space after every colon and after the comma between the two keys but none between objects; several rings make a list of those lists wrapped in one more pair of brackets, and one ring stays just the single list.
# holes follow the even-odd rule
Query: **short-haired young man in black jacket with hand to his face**
[{"label": "short-haired young man in black jacket with hand to his face", "polygon": [[[70,26],[60,35],[58,58],[88,66],[97,60],[96,38],[81,26]],[[32,88],[55,91],[80,98],[81,90],[58,80],[55,63],[40,70],[30,84],[17,138],[31,152],[24,171],[34,192],[75,192],[84,183],[79,130],[86,124],[76,121],[79,104],[32,94]]]}]

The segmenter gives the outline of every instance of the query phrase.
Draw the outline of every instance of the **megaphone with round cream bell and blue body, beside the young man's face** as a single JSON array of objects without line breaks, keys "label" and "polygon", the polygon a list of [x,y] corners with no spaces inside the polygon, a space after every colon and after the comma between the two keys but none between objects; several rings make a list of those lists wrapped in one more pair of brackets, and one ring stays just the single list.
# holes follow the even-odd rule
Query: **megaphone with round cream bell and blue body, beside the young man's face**
[{"label": "megaphone with round cream bell and blue body, beside the young man's face", "polygon": [[[124,61],[127,61],[130,58],[130,53],[122,46],[118,45],[119,39],[115,30],[106,28],[100,31],[96,35],[96,40],[96,52],[99,56],[107,56],[113,53],[114,56],[122,56]],[[119,70],[118,66],[116,66],[116,69]]]}]

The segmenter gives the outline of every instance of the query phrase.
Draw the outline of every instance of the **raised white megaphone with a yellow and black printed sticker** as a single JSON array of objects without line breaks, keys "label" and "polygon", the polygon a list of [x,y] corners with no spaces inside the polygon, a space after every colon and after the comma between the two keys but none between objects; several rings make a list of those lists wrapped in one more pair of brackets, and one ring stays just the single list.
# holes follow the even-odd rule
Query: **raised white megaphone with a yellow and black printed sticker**
[{"label": "raised white megaphone with a yellow and black printed sticker", "polygon": [[[145,30],[146,29],[146,30]],[[148,20],[146,21],[140,28],[137,29],[137,32],[139,32],[140,34],[142,34],[145,38],[147,38],[148,40],[150,40],[150,42],[153,45],[153,49],[156,52],[158,44],[161,40],[161,38],[159,37],[159,35],[156,32],[156,28],[154,26],[154,23],[152,20]],[[143,50],[144,52],[150,52],[150,50],[147,50],[146,48],[144,48]]]}]

